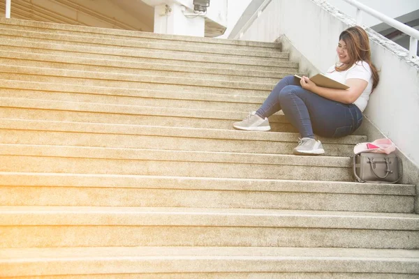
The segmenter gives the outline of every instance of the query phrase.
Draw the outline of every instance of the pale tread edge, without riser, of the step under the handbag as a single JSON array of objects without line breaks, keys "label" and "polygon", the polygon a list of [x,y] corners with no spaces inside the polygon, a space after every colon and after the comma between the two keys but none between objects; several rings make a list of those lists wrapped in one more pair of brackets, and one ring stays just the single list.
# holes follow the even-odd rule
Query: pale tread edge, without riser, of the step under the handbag
[{"label": "pale tread edge, without riser, of the step under the handbag", "polygon": [[[345,181],[298,181],[279,179],[232,179],[191,176],[129,174],[63,174],[0,172],[1,186],[73,186],[170,188],[200,190],[257,190],[307,193],[358,193],[360,195],[416,195],[411,184],[358,183]],[[158,183],[153,183],[157,181]]]}]

